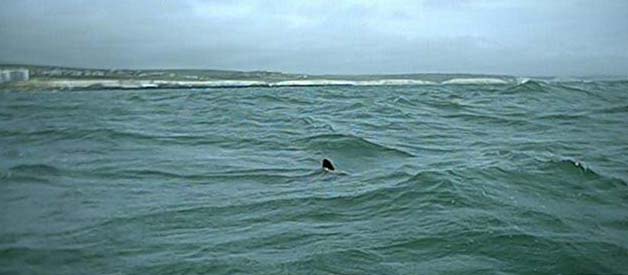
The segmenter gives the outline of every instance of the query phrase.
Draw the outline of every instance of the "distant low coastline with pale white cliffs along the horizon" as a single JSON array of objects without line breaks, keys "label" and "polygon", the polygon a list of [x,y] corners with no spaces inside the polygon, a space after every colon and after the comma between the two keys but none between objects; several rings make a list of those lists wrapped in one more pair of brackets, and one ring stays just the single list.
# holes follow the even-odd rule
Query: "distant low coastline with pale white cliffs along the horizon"
[{"label": "distant low coastline with pale white cliffs along the horizon", "polygon": [[267,71],[89,69],[22,64],[30,79],[0,84],[0,90],[96,90],[161,88],[245,88],[286,86],[395,86],[510,84],[517,78],[486,74],[308,75]]}]

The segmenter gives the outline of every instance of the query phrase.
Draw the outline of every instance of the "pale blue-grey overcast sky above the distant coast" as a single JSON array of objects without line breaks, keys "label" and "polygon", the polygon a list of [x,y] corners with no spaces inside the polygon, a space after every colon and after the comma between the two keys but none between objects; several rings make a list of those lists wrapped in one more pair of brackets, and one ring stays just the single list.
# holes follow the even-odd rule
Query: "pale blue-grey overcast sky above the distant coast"
[{"label": "pale blue-grey overcast sky above the distant coast", "polygon": [[624,0],[2,0],[0,63],[628,74]]}]

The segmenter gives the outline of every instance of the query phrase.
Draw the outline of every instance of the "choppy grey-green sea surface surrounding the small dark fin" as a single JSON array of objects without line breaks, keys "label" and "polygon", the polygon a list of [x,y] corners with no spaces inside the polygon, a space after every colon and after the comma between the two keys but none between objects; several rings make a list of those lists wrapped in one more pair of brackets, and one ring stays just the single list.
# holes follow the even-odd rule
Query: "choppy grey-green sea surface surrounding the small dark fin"
[{"label": "choppy grey-green sea surface surrounding the small dark fin", "polygon": [[0,146],[0,273],[628,272],[627,82],[5,92]]}]

